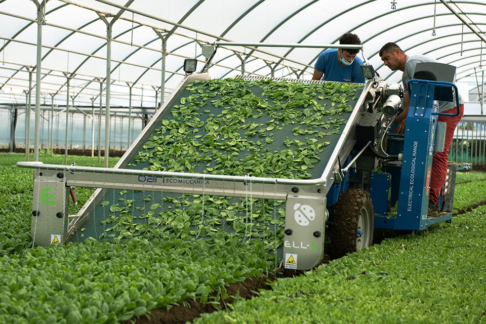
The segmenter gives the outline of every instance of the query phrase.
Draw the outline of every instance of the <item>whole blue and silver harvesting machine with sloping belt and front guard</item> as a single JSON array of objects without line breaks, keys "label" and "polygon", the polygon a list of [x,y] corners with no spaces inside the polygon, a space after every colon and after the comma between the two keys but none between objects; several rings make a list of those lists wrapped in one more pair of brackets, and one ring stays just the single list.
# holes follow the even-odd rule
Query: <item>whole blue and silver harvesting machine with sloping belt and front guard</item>
[{"label": "whole blue and silver harvesting machine with sloping belt and front guard", "polygon": [[[244,175],[231,174],[230,169],[225,169],[229,174],[216,174],[211,172],[214,168],[208,168],[214,167],[214,160],[208,158],[190,168],[187,167],[181,150],[191,150],[191,145],[194,145],[192,151],[197,150],[201,145],[200,141],[206,139],[213,145],[211,154],[219,154],[221,158],[232,155],[236,156],[236,159],[244,160],[250,153],[260,153],[255,147],[245,146],[236,149],[236,140],[230,144],[216,145],[216,139],[209,138],[211,130],[207,130],[205,125],[214,123],[214,118],[221,114],[222,109],[231,110],[231,105],[215,107],[211,103],[211,100],[221,99],[224,91],[218,88],[220,92],[212,94],[215,86],[209,83],[210,75],[206,71],[214,51],[211,52],[209,49],[209,54],[208,49],[205,51],[208,58],[205,69],[201,73],[188,73],[185,76],[114,168],[18,163],[19,167],[34,169],[31,234],[36,245],[50,246],[68,241],[84,241],[88,237],[119,237],[120,232],[121,237],[125,238],[143,233],[149,225],[163,225],[160,224],[160,219],[157,223],[157,213],[163,214],[160,210],[164,210],[166,215],[168,211],[177,214],[175,209],[169,206],[171,202],[174,204],[174,201],[177,201],[179,210],[186,210],[181,213],[189,217],[186,218],[188,224],[184,224],[184,218],[178,218],[177,215],[169,222],[178,221],[181,228],[185,228],[188,233],[195,232],[193,224],[190,223],[191,215],[200,217],[205,224],[208,224],[211,217],[216,217],[219,225],[226,221],[218,227],[219,230],[238,231],[234,224],[228,225],[230,213],[224,208],[216,212],[213,210],[212,213],[205,212],[205,208],[210,208],[210,204],[215,200],[204,200],[204,197],[240,197],[246,200],[247,215],[244,215],[243,224],[245,229],[248,228],[248,223],[252,222],[253,213],[257,212],[256,207],[254,210],[249,207],[248,201],[263,198],[284,201],[285,208],[281,210],[284,211],[282,218],[285,217],[285,225],[279,225],[271,218],[268,224],[255,223],[251,226],[255,226],[256,229],[266,228],[282,235],[282,245],[275,253],[283,267],[310,269],[319,264],[323,257],[326,228],[331,237],[331,253],[344,255],[370,246],[376,228],[424,230],[435,223],[451,221],[456,171],[470,168],[470,165],[449,164],[448,178],[439,199],[440,212],[431,217],[427,214],[427,209],[432,156],[434,152],[444,149],[446,133],[444,123],[437,121],[441,113],[434,108],[433,100],[454,100],[452,94],[454,91],[457,92],[454,84],[411,80],[407,128],[403,135],[398,135],[393,132],[394,127],[391,126],[400,108],[403,89],[401,85],[386,83],[371,66],[365,66],[363,72],[367,77],[367,83],[355,86],[352,89],[353,96],[348,96],[346,100],[342,99],[343,97],[340,99],[352,109],[340,110],[339,118],[342,123],[334,124],[334,129],[338,131],[324,134],[322,138],[314,138],[309,132],[296,133],[295,124],[282,123],[282,127],[272,124],[275,123],[269,115],[272,103],[277,99],[281,99],[282,103],[288,103],[292,102],[292,98],[285,98],[284,95],[269,98],[266,93],[268,89],[264,89],[265,85],[268,85],[265,80],[280,82],[287,86],[298,84],[304,93],[312,93],[329,83],[303,79],[236,76],[233,80],[244,89],[238,92],[238,98],[248,95],[251,98],[265,99],[265,104],[257,109],[259,113],[247,113],[246,120],[244,118],[241,121],[241,129],[237,130],[240,143],[244,143],[244,138],[250,138],[253,144],[259,143],[258,140],[268,138],[267,133],[272,130],[271,140],[268,141],[271,149],[262,149],[264,153],[260,153],[278,152],[281,158],[282,152],[297,141],[304,144],[326,141],[327,145],[319,146],[316,150],[317,158],[314,159],[312,168],[307,169],[302,165],[302,170],[307,169],[310,174],[307,179],[253,176],[251,170]],[[187,122],[190,118],[184,119],[181,106],[186,103],[186,98],[194,96],[194,85],[199,85],[196,94],[207,94],[204,100],[199,98],[196,105],[190,106],[193,110],[191,113],[197,113],[198,125],[182,125],[181,120]],[[339,89],[338,83],[332,85],[334,88],[327,89]],[[313,90],[305,90],[307,87]],[[338,99],[326,91],[322,96],[317,93],[310,98],[315,110],[312,115],[316,114],[322,118],[322,123],[334,118],[323,112],[323,107],[334,107]],[[265,106],[266,104],[268,105]],[[293,109],[303,111],[305,107]],[[309,114],[298,114],[302,115],[303,119],[310,118]],[[227,119],[228,123],[229,120]],[[249,134],[241,125],[251,121],[257,126],[254,133]],[[178,128],[171,129],[170,125],[178,125]],[[169,152],[169,155],[172,154],[169,164],[177,164],[180,168],[153,171],[154,166],[162,164],[154,156],[158,156],[157,150],[163,150],[157,146],[154,139],[160,140],[167,134],[176,139],[177,136],[184,135],[185,143],[190,145],[180,147],[177,140],[167,142],[167,146],[173,148]],[[215,137],[214,134],[212,136]],[[275,162],[278,156],[269,160]],[[293,158],[298,159],[296,156]],[[188,169],[192,171],[187,172]],[[69,215],[68,209],[71,187],[97,188],[75,215]],[[191,199],[200,199],[202,196],[202,208],[199,208],[202,211],[198,210],[197,213],[191,214],[188,211],[191,209],[190,201],[183,201],[181,204],[180,200],[177,200],[181,194],[191,196]],[[128,200],[130,203],[126,204]],[[211,201],[213,203],[210,203]],[[144,206],[145,203],[150,203],[150,208]],[[130,215],[129,220],[134,226],[127,229],[112,226],[116,218],[124,213]],[[226,220],[222,220],[222,215]],[[168,228],[167,222],[165,225]],[[170,229],[174,228],[172,224]]]}]

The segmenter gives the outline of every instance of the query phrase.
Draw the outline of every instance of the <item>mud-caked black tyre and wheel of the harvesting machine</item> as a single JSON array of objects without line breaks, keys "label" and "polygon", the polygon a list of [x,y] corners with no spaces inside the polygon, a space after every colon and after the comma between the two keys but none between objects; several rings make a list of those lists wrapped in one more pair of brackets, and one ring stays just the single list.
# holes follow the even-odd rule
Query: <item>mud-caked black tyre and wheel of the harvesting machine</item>
[{"label": "mud-caked black tyre and wheel of the harvesting machine", "polygon": [[370,194],[359,189],[343,191],[334,207],[331,226],[331,255],[347,253],[373,244],[374,210]]}]

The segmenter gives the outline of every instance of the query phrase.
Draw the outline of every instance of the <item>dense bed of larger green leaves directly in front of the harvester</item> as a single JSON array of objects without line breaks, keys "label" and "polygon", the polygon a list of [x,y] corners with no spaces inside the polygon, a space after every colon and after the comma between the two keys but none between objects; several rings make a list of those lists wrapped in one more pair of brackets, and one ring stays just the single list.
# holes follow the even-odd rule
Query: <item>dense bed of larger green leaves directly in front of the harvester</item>
[{"label": "dense bed of larger green leaves directly in front of the harvester", "polygon": [[0,322],[115,323],[273,269],[263,245],[207,240],[68,244],[0,259]]}]

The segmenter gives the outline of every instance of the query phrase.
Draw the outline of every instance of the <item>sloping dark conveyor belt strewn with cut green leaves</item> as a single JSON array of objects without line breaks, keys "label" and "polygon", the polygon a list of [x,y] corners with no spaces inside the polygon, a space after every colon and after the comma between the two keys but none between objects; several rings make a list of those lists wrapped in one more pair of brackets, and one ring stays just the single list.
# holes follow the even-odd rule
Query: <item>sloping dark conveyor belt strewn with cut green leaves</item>
[{"label": "sloping dark conveyor belt strewn with cut green leaves", "polygon": [[[343,91],[347,93],[346,100],[343,100]],[[269,178],[319,178],[361,91],[359,85],[248,76],[186,83],[175,91],[163,111],[154,116],[118,167]],[[191,102],[197,104],[194,106]],[[252,109],[255,103],[259,106]],[[331,114],[332,110],[340,112]],[[305,125],[312,118],[315,123],[326,125]],[[213,134],[208,128],[216,126],[219,128]],[[335,134],[324,134],[333,133],[333,130]],[[225,134],[228,135],[226,139],[223,138]],[[211,149],[201,149],[210,144]],[[194,160],[194,154],[187,151],[190,147],[199,150],[196,155],[201,160]],[[231,161],[224,167],[224,160],[239,163],[241,168]],[[293,170],[282,170],[285,165],[282,160],[287,160]],[[185,161],[189,161],[189,168]],[[263,166],[260,168],[253,161],[262,161]],[[85,208],[85,213],[89,212],[89,221],[83,226],[85,230],[77,231],[72,241],[83,241],[90,236],[99,239],[167,235],[171,239],[186,235],[208,236],[218,230],[244,234],[252,229],[252,238],[273,245],[271,242],[278,239],[280,227],[284,225],[281,217],[284,212],[279,208],[285,205],[278,207],[280,203],[274,201],[253,199],[251,193],[246,198],[207,196],[203,202],[201,196],[191,194],[189,185],[185,195],[107,189],[93,201],[96,202],[93,210]],[[253,218],[248,219],[249,214]],[[201,222],[204,226],[200,226]]]}]

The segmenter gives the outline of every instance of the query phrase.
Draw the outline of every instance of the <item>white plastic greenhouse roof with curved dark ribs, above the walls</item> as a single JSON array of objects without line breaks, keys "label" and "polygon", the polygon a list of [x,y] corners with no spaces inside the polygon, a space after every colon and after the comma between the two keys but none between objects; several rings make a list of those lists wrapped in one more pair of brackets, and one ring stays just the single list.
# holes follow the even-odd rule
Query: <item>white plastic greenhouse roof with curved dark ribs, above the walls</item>
[{"label": "white plastic greenhouse roof with curved dark ribs, above the walls", "polygon": [[[25,102],[29,70],[36,65],[34,2],[0,0],[0,103]],[[65,103],[66,75],[72,76],[73,103],[91,105],[99,100],[100,81],[106,77],[103,19],[110,21],[120,10],[112,32],[112,105],[128,105],[129,86],[134,106],[156,105],[161,84],[159,36],[167,37],[166,96],[184,75],[184,59],[196,57],[200,68],[204,62],[200,45],[218,39],[337,44],[343,33],[353,32],[360,37],[369,62],[389,82],[399,82],[401,72],[383,66],[378,56],[387,42],[397,43],[409,55],[425,54],[457,66],[458,82],[475,83],[475,73],[481,82],[486,61],[484,0],[341,0],[332,5],[324,0],[49,0],[42,32],[44,102],[50,103],[53,96],[56,103]],[[213,78],[241,74],[240,58],[247,56],[245,74],[269,76],[269,66],[275,66],[275,76],[310,78],[321,51],[219,48],[209,72]],[[35,90],[35,69],[32,74]]]}]

